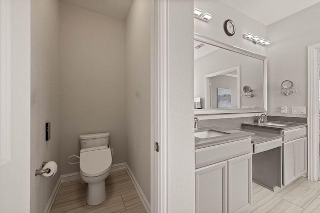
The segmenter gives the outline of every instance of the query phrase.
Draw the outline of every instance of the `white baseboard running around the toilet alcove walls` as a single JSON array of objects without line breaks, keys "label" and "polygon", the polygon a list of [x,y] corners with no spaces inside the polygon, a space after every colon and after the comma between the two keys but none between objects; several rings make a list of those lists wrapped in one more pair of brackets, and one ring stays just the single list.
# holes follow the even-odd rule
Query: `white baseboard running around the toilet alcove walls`
[{"label": "white baseboard running around the toilet alcove walls", "polygon": [[[133,183],[133,185],[134,185],[134,187],[135,187],[135,189],[136,189],[136,191],[142,201],[142,204],[143,204],[145,211],[147,213],[150,213],[150,204],[149,204],[148,200],[146,199],[144,193],[142,192],[142,190],[141,190],[138,182],[136,181],[129,166],[126,163],[114,164],[114,165],[112,165],[110,172],[112,173],[112,172],[117,172],[117,171],[121,171],[121,170],[127,171],[127,173],[129,174],[129,177],[130,177],[130,179],[131,179],[131,181],[132,181],[132,183]],[[58,193],[58,190],[59,190],[61,184],[67,183],[67,182],[79,181],[79,180],[81,180],[80,172],[74,172],[74,173],[70,173],[70,174],[60,175],[43,212],[50,213],[51,207],[53,205],[56,194]]]}]

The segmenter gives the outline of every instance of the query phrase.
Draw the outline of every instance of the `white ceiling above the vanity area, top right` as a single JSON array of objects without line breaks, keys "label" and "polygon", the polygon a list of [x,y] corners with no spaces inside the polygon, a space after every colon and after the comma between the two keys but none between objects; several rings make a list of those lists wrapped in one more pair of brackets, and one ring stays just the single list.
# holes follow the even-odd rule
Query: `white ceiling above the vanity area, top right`
[{"label": "white ceiling above the vanity area, top right", "polygon": [[320,0],[219,0],[247,16],[269,25]]}]

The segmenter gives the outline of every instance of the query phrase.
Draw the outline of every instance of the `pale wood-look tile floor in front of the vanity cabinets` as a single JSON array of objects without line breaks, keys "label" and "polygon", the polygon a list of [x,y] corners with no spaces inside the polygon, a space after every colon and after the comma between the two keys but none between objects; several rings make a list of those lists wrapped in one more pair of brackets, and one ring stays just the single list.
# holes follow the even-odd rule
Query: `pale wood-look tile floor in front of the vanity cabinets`
[{"label": "pale wood-look tile floor in front of the vanity cabinets", "polygon": [[247,213],[320,213],[320,182],[298,178],[272,192],[252,183],[252,206]]}]

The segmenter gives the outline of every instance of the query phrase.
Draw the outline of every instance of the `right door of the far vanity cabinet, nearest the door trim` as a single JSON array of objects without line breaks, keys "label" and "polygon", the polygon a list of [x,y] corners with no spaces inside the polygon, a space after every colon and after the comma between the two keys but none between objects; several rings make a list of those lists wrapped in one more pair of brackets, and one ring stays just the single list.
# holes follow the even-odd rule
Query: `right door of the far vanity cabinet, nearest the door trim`
[{"label": "right door of the far vanity cabinet, nearest the door trim", "polygon": [[300,177],[304,173],[306,173],[306,137],[300,138],[295,141],[296,144],[296,156],[295,156],[295,162],[296,162],[296,178]]}]

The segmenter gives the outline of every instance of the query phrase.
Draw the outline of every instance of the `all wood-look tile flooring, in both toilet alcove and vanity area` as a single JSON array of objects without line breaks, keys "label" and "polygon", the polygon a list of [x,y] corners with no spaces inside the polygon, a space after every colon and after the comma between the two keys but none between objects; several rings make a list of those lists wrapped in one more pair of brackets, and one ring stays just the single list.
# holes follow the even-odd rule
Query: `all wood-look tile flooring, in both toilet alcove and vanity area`
[{"label": "all wood-look tile flooring, in both toilet alcove and vanity area", "polygon": [[[107,199],[91,207],[85,202],[87,184],[62,184],[51,213],[144,213],[141,200],[125,170],[106,179]],[[252,207],[247,213],[320,213],[320,182],[298,178],[272,192],[252,183]]]}]

